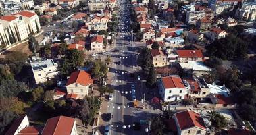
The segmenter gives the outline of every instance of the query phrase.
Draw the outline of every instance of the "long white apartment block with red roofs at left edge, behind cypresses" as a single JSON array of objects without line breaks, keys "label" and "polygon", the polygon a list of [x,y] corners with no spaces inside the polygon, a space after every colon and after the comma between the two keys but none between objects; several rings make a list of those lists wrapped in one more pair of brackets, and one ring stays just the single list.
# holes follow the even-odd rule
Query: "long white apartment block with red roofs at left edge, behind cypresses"
[{"label": "long white apartment block with red roofs at left edge, behind cypresses", "polygon": [[39,17],[31,11],[20,11],[14,15],[0,17],[1,45],[11,46],[28,38],[28,34],[41,29]]}]

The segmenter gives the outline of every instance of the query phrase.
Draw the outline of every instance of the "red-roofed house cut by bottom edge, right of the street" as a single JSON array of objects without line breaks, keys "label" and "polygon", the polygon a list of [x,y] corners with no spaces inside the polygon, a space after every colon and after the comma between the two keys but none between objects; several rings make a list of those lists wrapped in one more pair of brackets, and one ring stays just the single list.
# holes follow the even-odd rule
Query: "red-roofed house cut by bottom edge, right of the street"
[{"label": "red-roofed house cut by bottom edge, right of the street", "polygon": [[206,134],[207,127],[203,117],[195,111],[186,110],[174,114],[174,120],[178,128],[178,135]]}]

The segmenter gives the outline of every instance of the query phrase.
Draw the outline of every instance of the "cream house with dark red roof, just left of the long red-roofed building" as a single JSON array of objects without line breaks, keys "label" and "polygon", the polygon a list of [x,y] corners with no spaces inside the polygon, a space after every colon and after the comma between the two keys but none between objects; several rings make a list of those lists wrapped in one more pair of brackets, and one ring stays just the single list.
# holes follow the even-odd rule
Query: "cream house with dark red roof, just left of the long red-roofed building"
[{"label": "cream house with dark red roof, just left of the long red-roofed building", "polygon": [[151,49],[151,57],[154,67],[163,67],[168,65],[167,55],[165,55],[165,53],[159,49]]}]

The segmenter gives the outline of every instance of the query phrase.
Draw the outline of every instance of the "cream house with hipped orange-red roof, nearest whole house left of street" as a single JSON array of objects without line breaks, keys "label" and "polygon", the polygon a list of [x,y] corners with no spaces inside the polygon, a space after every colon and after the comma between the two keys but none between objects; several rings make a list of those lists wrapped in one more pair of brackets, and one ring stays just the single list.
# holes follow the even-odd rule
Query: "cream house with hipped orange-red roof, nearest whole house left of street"
[{"label": "cream house with hipped orange-red roof, nearest whole house left of street", "polygon": [[76,99],[83,99],[89,95],[89,86],[93,84],[91,75],[84,70],[72,72],[66,83],[67,94],[76,95]]}]

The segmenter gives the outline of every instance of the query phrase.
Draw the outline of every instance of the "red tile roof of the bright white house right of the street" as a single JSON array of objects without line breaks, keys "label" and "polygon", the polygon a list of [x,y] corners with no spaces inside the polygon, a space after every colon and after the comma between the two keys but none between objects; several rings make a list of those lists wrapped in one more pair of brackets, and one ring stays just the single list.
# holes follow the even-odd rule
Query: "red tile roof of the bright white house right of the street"
[{"label": "red tile roof of the bright white house right of the street", "polygon": [[166,76],[161,80],[164,88],[185,88],[180,76]]}]

